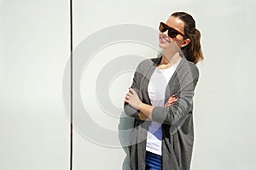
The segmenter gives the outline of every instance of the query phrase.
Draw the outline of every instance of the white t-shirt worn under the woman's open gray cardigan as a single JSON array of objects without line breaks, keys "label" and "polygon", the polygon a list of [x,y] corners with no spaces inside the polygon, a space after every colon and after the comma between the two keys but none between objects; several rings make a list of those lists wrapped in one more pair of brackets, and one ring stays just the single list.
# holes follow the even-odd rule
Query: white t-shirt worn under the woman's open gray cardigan
[{"label": "white t-shirt worn under the woman's open gray cardigan", "polygon": [[[166,87],[177,68],[179,62],[168,69],[156,68],[148,84],[148,96],[151,105],[165,106]],[[171,97],[171,96],[170,96]],[[162,155],[162,127],[158,122],[151,122],[148,127],[146,150],[157,155]]]}]

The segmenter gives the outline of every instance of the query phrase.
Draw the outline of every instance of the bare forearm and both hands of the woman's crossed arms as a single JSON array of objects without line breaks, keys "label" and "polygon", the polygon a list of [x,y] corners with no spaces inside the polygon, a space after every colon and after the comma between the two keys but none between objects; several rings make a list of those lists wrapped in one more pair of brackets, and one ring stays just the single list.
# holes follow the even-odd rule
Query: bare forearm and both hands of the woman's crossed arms
[{"label": "bare forearm and both hands of the woman's crossed arms", "polygon": [[[177,96],[172,95],[166,102],[165,107],[173,105],[177,101]],[[125,103],[128,103],[134,109],[138,110],[138,117],[142,121],[151,121],[152,120],[152,111],[154,106],[147,105],[139,99],[137,93],[133,88],[129,88],[129,92],[125,95]]]}]

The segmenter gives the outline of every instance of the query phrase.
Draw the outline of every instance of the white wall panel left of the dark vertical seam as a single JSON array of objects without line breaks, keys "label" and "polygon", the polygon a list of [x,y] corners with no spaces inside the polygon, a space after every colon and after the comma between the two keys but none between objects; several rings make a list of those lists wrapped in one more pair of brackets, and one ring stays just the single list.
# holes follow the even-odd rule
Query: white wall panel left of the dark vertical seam
[{"label": "white wall panel left of the dark vertical seam", "polygon": [[0,8],[0,169],[67,169],[68,3],[5,0]]}]

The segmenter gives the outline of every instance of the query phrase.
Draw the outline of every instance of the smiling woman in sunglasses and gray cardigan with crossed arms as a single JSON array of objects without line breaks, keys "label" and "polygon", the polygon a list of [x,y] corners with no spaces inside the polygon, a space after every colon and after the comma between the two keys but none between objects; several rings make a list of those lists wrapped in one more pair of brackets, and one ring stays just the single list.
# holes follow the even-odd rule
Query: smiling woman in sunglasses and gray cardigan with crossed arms
[{"label": "smiling woman in sunglasses and gray cardigan with crossed arms", "polygon": [[125,114],[135,118],[131,170],[187,170],[192,156],[193,96],[203,59],[200,31],[190,14],[160,23],[160,58],[145,59],[125,95]]}]

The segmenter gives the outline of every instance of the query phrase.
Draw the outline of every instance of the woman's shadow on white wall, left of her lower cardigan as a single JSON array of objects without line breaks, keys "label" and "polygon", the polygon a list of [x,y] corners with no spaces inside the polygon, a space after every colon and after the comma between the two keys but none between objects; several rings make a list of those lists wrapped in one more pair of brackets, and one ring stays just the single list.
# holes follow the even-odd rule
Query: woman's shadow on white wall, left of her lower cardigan
[{"label": "woman's shadow on white wall, left of her lower cardigan", "polygon": [[125,159],[123,161],[122,170],[130,170],[129,144],[131,143],[131,135],[133,132],[134,118],[126,116],[123,111],[119,119],[119,142],[125,150]]}]

